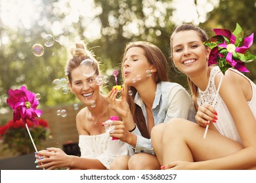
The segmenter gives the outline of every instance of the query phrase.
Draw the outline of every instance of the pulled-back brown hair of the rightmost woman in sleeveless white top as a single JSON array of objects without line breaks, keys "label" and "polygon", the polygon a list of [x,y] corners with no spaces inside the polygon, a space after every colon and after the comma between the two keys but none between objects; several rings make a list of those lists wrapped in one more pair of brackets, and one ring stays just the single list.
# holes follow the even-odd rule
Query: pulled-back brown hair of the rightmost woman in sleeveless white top
[{"label": "pulled-back brown hair of the rightmost woman in sleeveless white top", "polygon": [[[207,34],[205,33],[205,31],[203,29],[201,29],[200,27],[197,27],[195,25],[181,24],[181,25],[175,27],[175,29],[174,29],[173,33],[171,34],[171,37],[170,37],[170,45],[171,45],[170,55],[171,55],[171,58],[173,57],[173,45],[172,45],[173,37],[174,37],[175,33],[179,33],[180,31],[196,31],[196,32],[198,32],[198,35],[200,36],[202,42],[205,42],[208,39]],[[205,47],[207,47],[207,46],[205,46]],[[188,85],[189,85],[189,88],[191,90],[192,97],[193,97],[193,99],[196,99],[196,97],[198,96],[198,86],[196,86],[196,84],[194,84],[194,82],[192,82],[192,80],[190,80],[190,78],[188,78],[188,76],[186,78],[188,80]]]}]

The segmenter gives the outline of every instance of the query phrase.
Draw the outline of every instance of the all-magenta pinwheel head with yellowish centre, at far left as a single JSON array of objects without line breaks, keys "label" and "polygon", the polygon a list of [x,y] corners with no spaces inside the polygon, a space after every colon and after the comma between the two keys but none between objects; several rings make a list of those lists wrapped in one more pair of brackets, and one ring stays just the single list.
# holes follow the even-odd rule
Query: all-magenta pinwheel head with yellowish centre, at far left
[{"label": "all-magenta pinwheel head with yellowish centre, at far left", "polygon": [[36,109],[39,101],[35,98],[35,93],[22,86],[20,90],[9,89],[8,94],[10,97],[7,99],[7,104],[14,109],[13,121],[16,122],[22,118],[24,124],[27,120],[37,124],[35,117],[40,117],[43,112]]}]

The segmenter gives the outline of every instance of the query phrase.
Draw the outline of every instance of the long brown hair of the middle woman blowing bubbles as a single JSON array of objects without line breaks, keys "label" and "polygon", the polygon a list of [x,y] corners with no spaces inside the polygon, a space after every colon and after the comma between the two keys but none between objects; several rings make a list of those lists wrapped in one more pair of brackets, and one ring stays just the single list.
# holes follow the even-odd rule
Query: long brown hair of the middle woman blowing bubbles
[{"label": "long brown hair of the middle woman blowing bubbles", "polygon": [[[154,68],[156,69],[156,75],[154,75],[154,80],[158,84],[161,81],[169,81],[168,78],[168,62],[165,58],[163,52],[161,52],[160,48],[158,46],[150,43],[150,42],[144,42],[144,41],[136,41],[136,42],[129,42],[127,46],[125,47],[122,63],[121,63],[121,73],[123,80],[125,80],[123,75],[123,67],[125,63],[125,55],[127,51],[130,48],[133,47],[139,47],[144,50],[144,56],[148,60],[148,62],[152,65],[154,65]],[[128,95],[128,91],[131,90],[133,92],[133,95]],[[146,120],[144,118],[144,115],[142,113],[141,108],[139,105],[137,105],[134,102],[135,94],[137,93],[137,89],[133,86],[127,86],[125,84],[125,97],[127,99],[127,103],[129,103],[129,107],[131,110],[131,114],[133,115],[133,120],[135,121],[135,124],[137,124],[137,127],[139,127],[140,133],[143,137],[150,138],[150,135],[148,133],[148,129],[146,126]]]}]

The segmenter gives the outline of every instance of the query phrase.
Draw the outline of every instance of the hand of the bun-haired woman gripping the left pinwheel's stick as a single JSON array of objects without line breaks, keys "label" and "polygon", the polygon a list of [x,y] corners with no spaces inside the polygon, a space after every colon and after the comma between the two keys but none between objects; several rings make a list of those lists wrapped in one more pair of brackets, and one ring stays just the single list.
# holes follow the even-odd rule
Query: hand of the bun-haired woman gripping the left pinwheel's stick
[{"label": "hand of the bun-haired woman gripping the left pinwheel's stick", "polygon": [[37,158],[40,157],[35,161],[37,168],[51,170],[60,167],[70,167],[68,155],[60,148],[47,148],[47,150],[36,152],[35,155]]}]

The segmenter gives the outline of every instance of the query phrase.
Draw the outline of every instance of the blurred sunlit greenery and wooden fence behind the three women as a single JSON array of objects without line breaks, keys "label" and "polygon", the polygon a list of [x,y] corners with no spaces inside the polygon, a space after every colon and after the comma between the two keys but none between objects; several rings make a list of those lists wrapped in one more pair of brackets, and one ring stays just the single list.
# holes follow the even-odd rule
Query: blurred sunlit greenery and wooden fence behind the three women
[{"label": "blurred sunlit greenery and wooden fence behind the three women", "polygon": [[[213,28],[233,31],[238,23],[248,36],[256,33],[255,17],[255,0],[1,0],[0,125],[12,118],[7,91],[26,86],[40,97],[42,118],[55,134],[51,145],[60,146],[70,138],[60,137],[64,130],[60,124],[74,129],[74,138],[78,137],[74,115],[81,104],[68,90],[64,71],[75,42],[85,42],[95,52],[108,80],[105,92],[114,85],[112,71],[120,69],[125,44],[133,40],[156,44],[170,63],[170,80],[188,89],[185,76],[169,59],[169,36],[175,25],[199,25],[212,36]],[[35,44],[41,44],[41,52],[33,52]],[[252,54],[256,54],[255,45],[250,48]],[[247,68],[250,73],[245,75],[255,82],[256,61],[247,63]],[[117,82],[122,83],[121,76]]]}]

